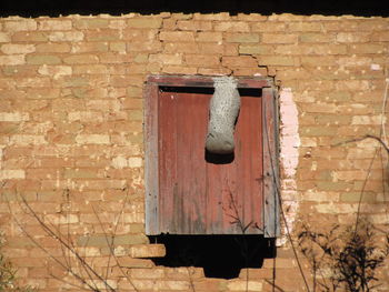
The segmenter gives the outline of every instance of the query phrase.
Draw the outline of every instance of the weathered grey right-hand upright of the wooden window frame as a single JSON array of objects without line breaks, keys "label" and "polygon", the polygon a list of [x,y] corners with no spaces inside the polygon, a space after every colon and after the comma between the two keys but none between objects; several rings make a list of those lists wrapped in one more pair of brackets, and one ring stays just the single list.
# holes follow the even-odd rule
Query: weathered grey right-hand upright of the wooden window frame
[{"label": "weathered grey right-hand upright of the wooden window frame", "polygon": [[266,238],[276,238],[279,230],[278,108],[272,88],[262,90],[263,122],[263,223]]}]

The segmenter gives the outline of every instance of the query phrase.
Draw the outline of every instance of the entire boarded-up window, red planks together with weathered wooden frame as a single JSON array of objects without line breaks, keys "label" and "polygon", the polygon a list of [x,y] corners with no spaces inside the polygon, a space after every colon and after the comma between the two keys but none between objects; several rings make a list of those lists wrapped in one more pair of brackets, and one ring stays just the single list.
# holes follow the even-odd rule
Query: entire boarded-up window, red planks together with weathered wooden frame
[{"label": "entire boarded-up window, red planks together with weathered wooden frame", "polygon": [[[265,88],[262,97],[242,98],[236,158],[215,164],[205,159],[203,147],[210,93],[173,89],[190,88],[194,81],[198,87],[213,85],[209,77],[149,78],[144,92],[147,234],[241,234],[227,214],[232,193],[235,215],[245,224],[256,224],[245,233],[276,236],[278,117],[272,89]],[[250,88],[268,81],[240,80]],[[161,92],[164,85],[171,92]],[[265,175],[263,169],[268,170]]]}]

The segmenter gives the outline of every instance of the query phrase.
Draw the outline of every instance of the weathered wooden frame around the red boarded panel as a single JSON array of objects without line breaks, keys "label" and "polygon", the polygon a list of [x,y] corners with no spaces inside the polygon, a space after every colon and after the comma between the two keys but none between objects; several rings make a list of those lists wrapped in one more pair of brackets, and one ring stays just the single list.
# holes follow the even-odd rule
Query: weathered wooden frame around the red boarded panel
[{"label": "weathered wooden frame around the red boarded panel", "polygon": [[[150,75],[144,87],[144,188],[146,234],[160,234],[158,221],[158,98],[161,87],[213,88],[215,77]],[[263,147],[263,236],[277,238],[279,226],[279,110],[270,78],[237,78],[238,89],[262,91]]]}]

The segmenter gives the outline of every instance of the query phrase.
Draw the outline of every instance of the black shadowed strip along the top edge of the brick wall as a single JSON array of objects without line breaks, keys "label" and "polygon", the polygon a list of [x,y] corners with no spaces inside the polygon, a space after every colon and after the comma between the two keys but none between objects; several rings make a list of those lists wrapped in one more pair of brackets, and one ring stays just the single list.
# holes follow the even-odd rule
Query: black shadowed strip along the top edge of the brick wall
[{"label": "black shadowed strip along the top edge of the brick wall", "polygon": [[295,13],[325,16],[389,16],[389,1],[382,0],[1,0],[0,17],[99,14],[141,12],[230,12]]}]

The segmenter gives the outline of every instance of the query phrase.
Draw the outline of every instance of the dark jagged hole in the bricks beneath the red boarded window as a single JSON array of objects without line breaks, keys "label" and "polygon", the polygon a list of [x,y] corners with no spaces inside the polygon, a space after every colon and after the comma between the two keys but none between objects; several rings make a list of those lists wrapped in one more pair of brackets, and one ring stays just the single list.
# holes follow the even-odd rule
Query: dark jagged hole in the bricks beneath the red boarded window
[{"label": "dark jagged hole in the bricks beneath the red boarded window", "polygon": [[163,243],[164,258],[157,265],[203,268],[207,278],[232,279],[245,268],[261,268],[263,259],[273,258],[275,240],[262,235],[153,235],[152,243]]}]

